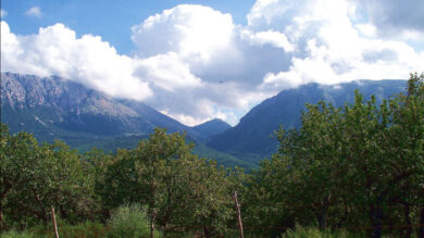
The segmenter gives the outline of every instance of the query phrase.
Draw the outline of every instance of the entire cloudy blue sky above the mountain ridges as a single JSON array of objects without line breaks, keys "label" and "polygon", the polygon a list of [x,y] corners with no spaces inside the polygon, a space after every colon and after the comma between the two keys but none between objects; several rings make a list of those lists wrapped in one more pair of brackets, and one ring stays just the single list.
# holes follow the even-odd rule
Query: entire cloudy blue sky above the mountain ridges
[{"label": "entire cloudy blue sky above the mountain ridges", "polygon": [[284,89],[423,72],[423,12],[422,0],[2,0],[1,71],[236,125]]}]

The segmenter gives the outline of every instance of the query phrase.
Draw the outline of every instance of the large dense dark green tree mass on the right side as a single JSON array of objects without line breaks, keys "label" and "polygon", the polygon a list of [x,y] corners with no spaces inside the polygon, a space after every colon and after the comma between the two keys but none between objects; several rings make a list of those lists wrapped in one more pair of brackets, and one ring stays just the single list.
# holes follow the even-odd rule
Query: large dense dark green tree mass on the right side
[{"label": "large dense dark green tree mass on the right side", "polygon": [[249,222],[411,236],[424,224],[424,76],[381,105],[357,91],[353,104],[307,108],[299,129],[276,133],[278,153],[250,183]]}]

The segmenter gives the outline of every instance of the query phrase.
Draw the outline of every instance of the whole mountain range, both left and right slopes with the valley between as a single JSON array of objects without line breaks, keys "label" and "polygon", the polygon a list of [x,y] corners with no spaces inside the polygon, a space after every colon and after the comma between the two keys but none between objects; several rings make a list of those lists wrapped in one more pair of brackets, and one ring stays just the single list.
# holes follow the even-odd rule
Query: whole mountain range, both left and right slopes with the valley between
[{"label": "whole mountain range, both left and right slopes with the valley between", "polygon": [[12,133],[26,130],[41,141],[61,139],[82,151],[132,148],[153,128],[163,127],[171,133],[186,131],[199,155],[224,165],[251,167],[276,151],[274,130],[280,125],[300,125],[305,103],[324,100],[339,107],[352,102],[356,89],[382,101],[404,88],[406,80],[309,84],[266,99],[235,127],[221,120],[189,127],[140,101],[112,98],[61,77],[1,73],[1,122]]}]

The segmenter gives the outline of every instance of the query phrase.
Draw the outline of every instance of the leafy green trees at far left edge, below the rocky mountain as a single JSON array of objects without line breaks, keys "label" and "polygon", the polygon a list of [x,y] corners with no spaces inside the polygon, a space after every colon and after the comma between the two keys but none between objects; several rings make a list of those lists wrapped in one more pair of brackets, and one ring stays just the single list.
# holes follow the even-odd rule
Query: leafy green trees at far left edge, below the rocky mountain
[{"label": "leafy green trees at far left edge, below the rocky mountain", "polygon": [[10,135],[5,125],[1,130],[0,217],[7,211],[10,222],[23,226],[47,223],[51,206],[71,222],[87,217],[93,180],[77,151],[61,141],[39,146],[27,133]]}]

